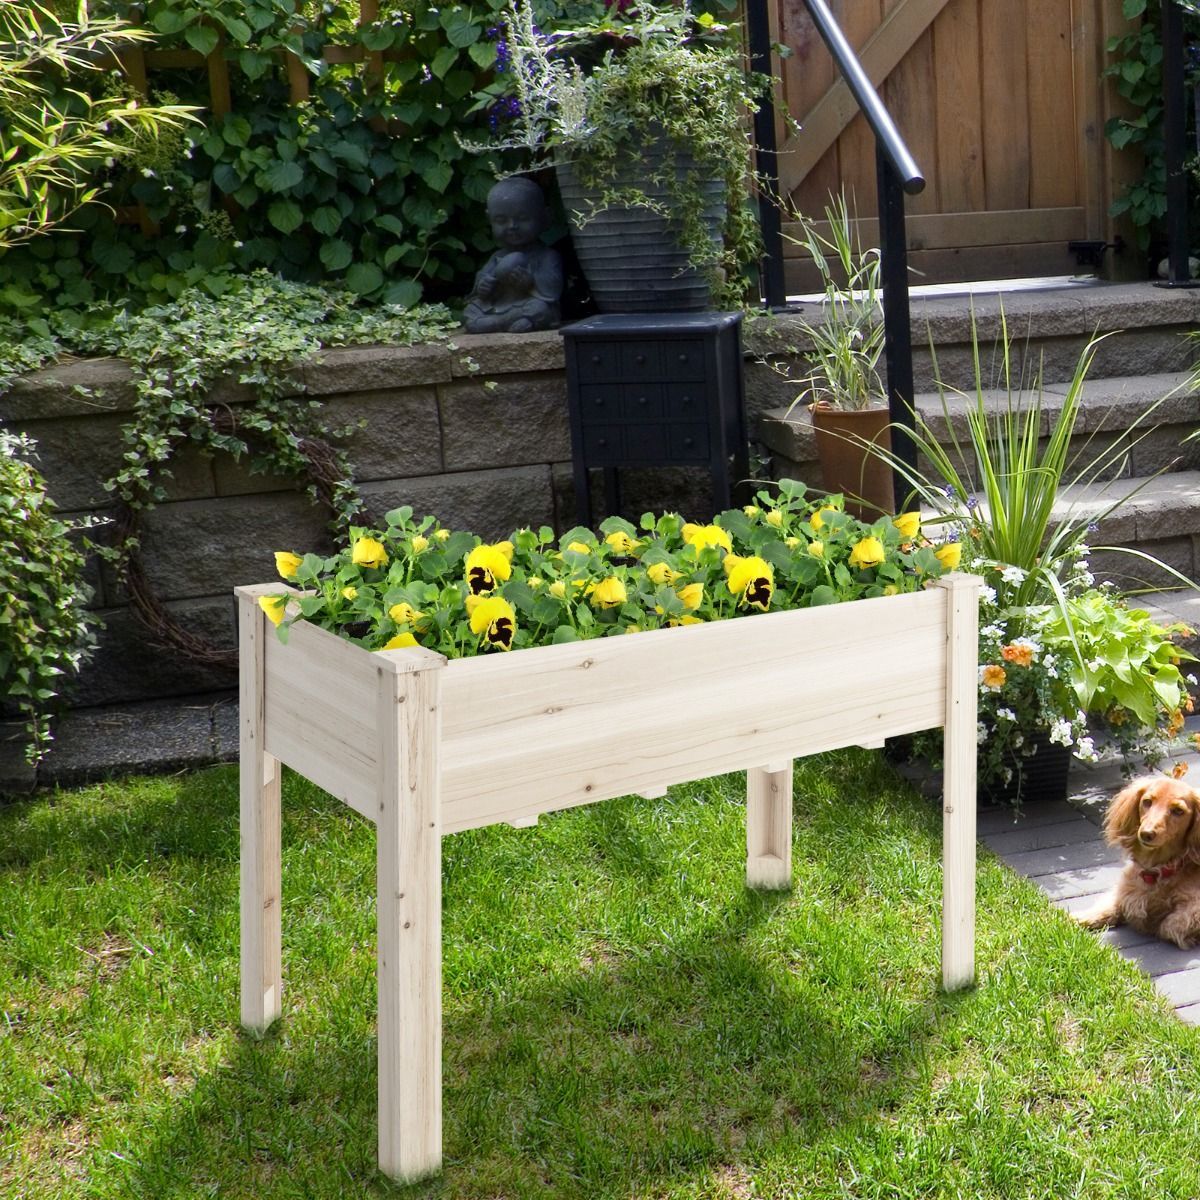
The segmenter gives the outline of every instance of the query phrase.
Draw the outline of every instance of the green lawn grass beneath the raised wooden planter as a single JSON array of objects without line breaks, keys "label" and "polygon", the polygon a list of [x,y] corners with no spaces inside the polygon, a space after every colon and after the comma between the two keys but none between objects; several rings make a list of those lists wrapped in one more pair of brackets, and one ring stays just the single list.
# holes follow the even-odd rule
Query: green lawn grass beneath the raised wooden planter
[{"label": "green lawn grass beneath the raised wooden planter", "polygon": [[238,1028],[236,773],[0,808],[0,1195],[1194,1198],[1200,1032],[982,854],[938,990],[940,815],[798,766],[796,886],[743,778],[444,844],[445,1171],[374,1169],[371,828],[284,784],[284,1016]]}]

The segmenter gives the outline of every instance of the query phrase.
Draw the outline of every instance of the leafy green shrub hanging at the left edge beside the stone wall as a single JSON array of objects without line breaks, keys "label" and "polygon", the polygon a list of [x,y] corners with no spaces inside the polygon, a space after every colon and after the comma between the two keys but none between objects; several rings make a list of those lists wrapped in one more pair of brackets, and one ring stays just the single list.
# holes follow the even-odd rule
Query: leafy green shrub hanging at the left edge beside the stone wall
[{"label": "leafy green shrub hanging at the left edge beside the stone wall", "polygon": [[26,756],[49,749],[49,714],[66,676],[95,637],[84,556],[54,515],[46,481],[28,462],[34,444],[0,431],[0,695],[25,721]]}]

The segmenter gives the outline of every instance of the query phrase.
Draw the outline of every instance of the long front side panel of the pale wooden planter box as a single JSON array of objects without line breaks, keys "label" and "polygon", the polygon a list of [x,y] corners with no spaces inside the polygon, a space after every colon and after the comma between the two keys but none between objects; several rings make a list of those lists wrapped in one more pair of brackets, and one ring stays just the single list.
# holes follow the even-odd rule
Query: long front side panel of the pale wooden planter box
[{"label": "long front side panel of the pale wooden planter box", "polygon": [[[872,620],[886,640],[864,642]],[[443,829],[940,725],[944,620],[931,588],[452,661]]]}]

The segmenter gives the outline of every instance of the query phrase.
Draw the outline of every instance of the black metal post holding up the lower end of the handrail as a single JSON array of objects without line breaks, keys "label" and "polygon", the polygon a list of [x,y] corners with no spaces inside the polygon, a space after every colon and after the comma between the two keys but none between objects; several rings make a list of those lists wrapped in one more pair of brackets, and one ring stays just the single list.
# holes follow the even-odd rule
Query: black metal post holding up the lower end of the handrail
[{"label": "black metal post holding up the lower end of the handrail", "polygon": [[[912,439],[912,324],[908,312],[908,254],[904,224],[904,187],[882,142],[875,143],[875,179],[880,196],[880,280],[883,284],[883,343],[888,366],[888,410],[892,452],[910,469],[917,467]],[[893,472],[896,512],[911,485]]]}]

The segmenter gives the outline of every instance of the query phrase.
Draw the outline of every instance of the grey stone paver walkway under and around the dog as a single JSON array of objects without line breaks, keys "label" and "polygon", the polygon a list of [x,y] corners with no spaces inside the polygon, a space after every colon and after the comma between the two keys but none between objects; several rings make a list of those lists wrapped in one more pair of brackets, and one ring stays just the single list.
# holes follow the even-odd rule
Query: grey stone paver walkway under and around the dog
[{"label": "grey stone paver walkway under and around the dog", "polygon": [[[1188,781],[1200,786],[1200,755],[1180,757],[1188,763]],[[1069,800],[1026,805],[1015,821],[1007,809],[980,810],[979,841],[1037,883],[1056,908],[1082,912],[1122,870],[1122,854],[1105,844],[1100,822],[1123,784],[1115,763],[1079,768],[1072,772]],[[1127,928],[1096,936],[1145,971],[1182,1020],[1200,1025],[1200,947],[1181,950]]]}]

